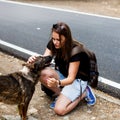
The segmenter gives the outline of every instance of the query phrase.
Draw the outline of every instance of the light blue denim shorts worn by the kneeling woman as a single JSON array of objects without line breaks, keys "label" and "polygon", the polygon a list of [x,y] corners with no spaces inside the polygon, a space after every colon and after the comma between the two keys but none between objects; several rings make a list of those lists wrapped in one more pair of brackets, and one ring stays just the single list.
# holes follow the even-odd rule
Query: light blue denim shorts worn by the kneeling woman
[{"label": "light blue denim shorts worn by the kneeling woman", "polygon": [[[65,79],[65,77],[59,71],[57,71],[57,73],[60,80]],[[85,91],[86,87],[87,81],[75,79],[72,84],[65,86],[61,93],[73,102]]]}]

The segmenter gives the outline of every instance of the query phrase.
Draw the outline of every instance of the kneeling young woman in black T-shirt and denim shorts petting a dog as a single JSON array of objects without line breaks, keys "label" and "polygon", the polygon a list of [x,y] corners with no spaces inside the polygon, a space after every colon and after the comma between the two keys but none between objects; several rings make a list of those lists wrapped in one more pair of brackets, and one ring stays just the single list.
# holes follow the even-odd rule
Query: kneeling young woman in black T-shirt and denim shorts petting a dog
[{"label": "kneeling young woman in black T-shirt and denim shorts petting a dog", "polygon": [[[56,101],[50,105],[58,115],[69,113],[83,98],[86,98],[88,105],[96,102],[92,89],[87,85],[89,76],[79,72],[89,75],[89,59],[84,52],[72,55],[76,46],[67,24],[59,22],[52,26],[51,39],[44,56],[54,56],[55,69],[45,68],[41,72],[40,81],[58,95]],[[35,59],[36,56],[32,56],[28,62]]]}]

